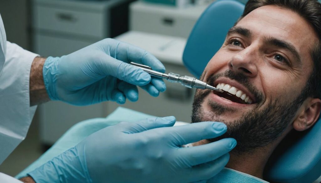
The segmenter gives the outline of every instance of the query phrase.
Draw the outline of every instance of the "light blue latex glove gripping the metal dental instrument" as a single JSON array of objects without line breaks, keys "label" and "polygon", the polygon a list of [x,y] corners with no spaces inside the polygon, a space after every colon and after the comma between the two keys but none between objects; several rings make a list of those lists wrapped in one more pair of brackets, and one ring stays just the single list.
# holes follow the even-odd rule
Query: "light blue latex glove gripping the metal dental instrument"
[{"label": "light blue latex glove gripping the metal dental instrument", "polygon": [[163,64],[152,54],[136,46],[104,39],[62,57],[48,57],[43,78],[51,100],[73,105],[90,105],[103,101],[124,104],[126,98],[138,100],[140,86],[152,96],[166,89],[165,83],[128,64],[142,63],[165,72]]}]

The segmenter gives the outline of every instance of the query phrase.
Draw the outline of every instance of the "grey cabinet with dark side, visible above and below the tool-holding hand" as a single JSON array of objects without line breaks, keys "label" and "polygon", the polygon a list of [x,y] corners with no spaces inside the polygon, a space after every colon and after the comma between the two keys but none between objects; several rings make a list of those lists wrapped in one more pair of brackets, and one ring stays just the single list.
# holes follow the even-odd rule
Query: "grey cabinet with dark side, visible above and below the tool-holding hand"
[{"label": "grey cabinet with dark side, visible above and below the tool-holding hand", "polygon": [[[41,56],[62,56],[128,31],[134,0],[32,0],[32,47]],[[107,103],[72,106],[51,101],[39,106],[40,140],[52,145],[79,121],[106,117]]]}]

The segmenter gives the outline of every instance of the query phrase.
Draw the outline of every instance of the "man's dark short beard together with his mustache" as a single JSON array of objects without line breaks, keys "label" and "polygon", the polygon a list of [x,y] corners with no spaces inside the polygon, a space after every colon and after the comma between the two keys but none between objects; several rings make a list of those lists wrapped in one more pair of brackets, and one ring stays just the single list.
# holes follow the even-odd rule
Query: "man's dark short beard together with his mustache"
[{"label": "man's dark short beard together with his mustache", "polygon": [[[224,75],[243,84],[255,96],[257,108],[243,113],[235,121],[226,121],[221,114],[226,112],[237,112],[238,109],[222,106],[219,103],[209,101],[211,111],[205,112],[202,108],[204,98],[212,91],[197,90],[194,97],[192,123],[201,121],[219,121],[227,126],[227,132],[220,137],[207,139],[214,142],[223,138],[234,138],[237,146],[233,149],[234,153],[244,154],[255,151],[275,141],[285,131],[289,123],[293,120],[300,105],[304,101],[304,91],[292,101],[285,101],[284,98],[275,98],[265,108],[259,109],[258,106],[263,103],[263,94],[256,87],[251,85],[247,76],[242,73],[225,71],[212,75],[208,83],[213,83],[217,78]],[[284,102],[282,102],[284,101]]]}]

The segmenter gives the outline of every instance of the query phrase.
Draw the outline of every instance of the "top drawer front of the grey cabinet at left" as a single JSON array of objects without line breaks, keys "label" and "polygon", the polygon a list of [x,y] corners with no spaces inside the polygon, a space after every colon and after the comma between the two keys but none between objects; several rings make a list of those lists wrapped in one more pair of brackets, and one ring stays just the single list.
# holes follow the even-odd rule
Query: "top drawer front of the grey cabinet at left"
[{"label": "top drawer front of the grey cabinet at left", "polygon": [[102,12],[36,5],[33,19],[36,29],[101,38],[106,34],[106,23]]}]

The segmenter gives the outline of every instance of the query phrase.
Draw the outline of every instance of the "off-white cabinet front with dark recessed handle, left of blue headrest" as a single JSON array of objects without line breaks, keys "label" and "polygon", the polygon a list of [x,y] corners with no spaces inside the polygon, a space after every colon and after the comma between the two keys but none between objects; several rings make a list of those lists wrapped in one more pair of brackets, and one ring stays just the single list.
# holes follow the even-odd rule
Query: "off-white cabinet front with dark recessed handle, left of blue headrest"
[{"label": "off-white cabinet front with dark recessed handle, left of blue headrest", "polygon": [[130,30],[188,38],[207,4],[185,8],[136,1],[130,4]]}]

